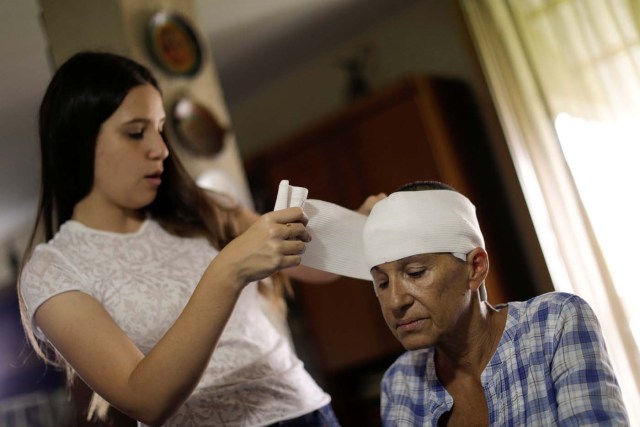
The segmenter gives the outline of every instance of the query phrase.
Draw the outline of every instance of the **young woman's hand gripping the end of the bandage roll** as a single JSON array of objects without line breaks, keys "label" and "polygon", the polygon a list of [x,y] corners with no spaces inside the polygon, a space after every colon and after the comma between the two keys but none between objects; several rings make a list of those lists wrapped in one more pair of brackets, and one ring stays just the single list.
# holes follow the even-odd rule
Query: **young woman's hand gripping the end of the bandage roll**
[{"label": "young woman's hand gripping the end of the bandage roll", "polygon": [[264,279],[276,271],[300,264],[308,219],[301,208],[287,208],[259,217],[232,240],[214,262],[226,265],[242,285]]}]

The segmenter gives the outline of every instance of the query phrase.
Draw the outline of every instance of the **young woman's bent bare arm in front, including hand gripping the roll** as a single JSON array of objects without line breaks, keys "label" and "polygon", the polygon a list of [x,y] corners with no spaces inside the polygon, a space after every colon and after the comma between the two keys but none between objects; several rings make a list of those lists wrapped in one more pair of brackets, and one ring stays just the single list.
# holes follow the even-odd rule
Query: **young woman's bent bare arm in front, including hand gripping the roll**
[{"label": "young woman's bent bare arm in front, including hand gripping the roll", "polygon": [[180,316],[146,356],[82,292],[50,298],[37,310],[36,322],[98,394],[135,419],[162,424],[197,385],[244,286],[299,264],[308,241],[305,224],[299,208],[255,221],[211,262]]}]

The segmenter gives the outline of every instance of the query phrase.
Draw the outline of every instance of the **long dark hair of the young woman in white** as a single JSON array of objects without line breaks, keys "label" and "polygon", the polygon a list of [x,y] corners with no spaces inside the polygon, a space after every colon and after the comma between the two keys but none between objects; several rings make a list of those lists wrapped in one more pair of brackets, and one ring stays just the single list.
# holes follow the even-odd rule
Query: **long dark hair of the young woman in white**
[{"label": "long dark hair of the young woman in white", "polygon": [[[36,221],[22,258],[21,270],[36,243],[50,240],[69,220],[74,206],[93,187],[95,147],[102,124],[136,86],[158,82],[144,66],[104,52],[80,52],[56,71],[39,111],[41,187]],[[167,231],[180,236],[204,235],[216,249],[238,229],[233,208],[216,204],[188,175],[169,141],[162,185],[144,210]],[[36,353],[45,361],[73,372],[55,350],[39,343],[31,330],[18,280],[22,323]]]}]

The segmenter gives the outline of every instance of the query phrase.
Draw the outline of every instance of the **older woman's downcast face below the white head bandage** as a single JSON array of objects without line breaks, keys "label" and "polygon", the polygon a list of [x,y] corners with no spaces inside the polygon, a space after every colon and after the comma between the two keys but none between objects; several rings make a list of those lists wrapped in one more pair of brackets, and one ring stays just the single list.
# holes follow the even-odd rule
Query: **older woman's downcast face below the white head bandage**
[{"label": "older woman's downcast face below the white head bandage", "polygon": [[382,314],[408,350],[459,338],[471,296],[467,265],[449,254],[421,254],[371,270]]}]

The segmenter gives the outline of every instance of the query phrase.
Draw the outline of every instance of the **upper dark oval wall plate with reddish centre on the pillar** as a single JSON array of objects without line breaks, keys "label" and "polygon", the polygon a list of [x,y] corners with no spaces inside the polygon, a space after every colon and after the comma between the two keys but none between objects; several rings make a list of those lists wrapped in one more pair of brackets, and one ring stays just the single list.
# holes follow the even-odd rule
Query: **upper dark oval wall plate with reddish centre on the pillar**
[{"label": "upper dark oval wall plate with reddish centre on the pillar", "polygon": [[166,73],[193,76],[202,67],[202,48],[196,31],[181,15],[157,12],[149,20],[147,48]]}]

